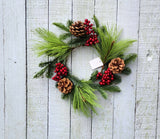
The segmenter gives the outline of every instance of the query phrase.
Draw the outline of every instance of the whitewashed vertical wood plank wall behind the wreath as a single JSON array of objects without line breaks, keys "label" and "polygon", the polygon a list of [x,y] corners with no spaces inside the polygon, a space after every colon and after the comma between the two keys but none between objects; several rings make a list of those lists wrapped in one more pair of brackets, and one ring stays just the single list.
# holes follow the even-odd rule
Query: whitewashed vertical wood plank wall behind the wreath
[{"label": "whitewashed vertical wood plank wall behind the wreath", "polygon": [[[138,53],[121,93],[99,97],[103,109],[86,118],[61,99],[39,70],[33,31],[52,22],[91,19],[123,28]],[[160,139],[160,0],[0,0],[0,139]],[[74,75],[89,78],[93,49],[75,51]]]}]

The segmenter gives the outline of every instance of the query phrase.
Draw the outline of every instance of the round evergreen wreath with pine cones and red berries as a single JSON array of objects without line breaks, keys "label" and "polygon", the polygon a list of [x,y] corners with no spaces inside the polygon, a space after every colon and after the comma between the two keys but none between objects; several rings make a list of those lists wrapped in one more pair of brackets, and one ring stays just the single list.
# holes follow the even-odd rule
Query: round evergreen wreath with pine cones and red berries
[{"label": "round evergreen wreath with pine cones and red berries", "polygon": [[[115,26],[100,26],[96,16],[93,16],[94,25],[85,19],[84,22],[71,20],[67,24],[53,23],[64,31],[60,36],[44,29],[36,29],[36,33],[42,38],[36,43],[38,56],[47,56],[47,62],[41,62],[42,69],[37,72],[34,78],[45,75],[56,81],[56,87],[62,92],[62,98],[69,98],[75,110],[82,111],[90,116],[90,110],[96,112],[96,93],[99,92],[104,99],[107,99],[108,92],[120,92],[116,84],[121,82],[120,74],[129,75],[131,69],[128,64],[135,60],[137,54],[124,52],[135,40],[120,40],[122,30],[118,31]],[[67,58],[71,52],[78,47],[94,48],[103,63],[100,71],[96,70],[91,74],[89,80],[80,80],[72,75],[67,67]]]}]

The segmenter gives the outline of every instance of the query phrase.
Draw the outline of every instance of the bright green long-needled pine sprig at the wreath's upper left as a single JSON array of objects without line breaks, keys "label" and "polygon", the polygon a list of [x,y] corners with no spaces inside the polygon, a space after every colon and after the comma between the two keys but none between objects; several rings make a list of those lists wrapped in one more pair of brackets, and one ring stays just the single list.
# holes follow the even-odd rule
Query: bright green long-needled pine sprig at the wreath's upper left
[{"label": "bright green long-needled pine sprig at the wreath's upper left", "polygon": [[35,50],[38,56],[50,56],[59,60],[65,60],[71,53],[72,48],[61,41],[54,33],[38,28],[36,29],[38,35],[43,39],[36,44]]}]

